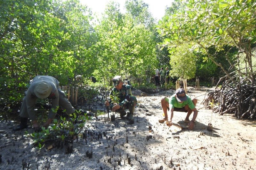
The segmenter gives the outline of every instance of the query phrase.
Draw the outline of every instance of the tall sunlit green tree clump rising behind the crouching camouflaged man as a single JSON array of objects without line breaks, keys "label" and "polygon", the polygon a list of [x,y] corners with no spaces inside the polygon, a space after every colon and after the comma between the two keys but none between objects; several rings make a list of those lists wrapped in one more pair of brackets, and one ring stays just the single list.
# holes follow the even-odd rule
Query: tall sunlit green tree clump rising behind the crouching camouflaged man
[{"label": "tall sunlit green tree clump rising behind the crouching camouflaged man", "polygon": [[[95,75],[111,78],[116,74],[123,78],[146,79],[145,70],[148,65],[155,66],[156,36],[150,15],[142,18],[142,13],[148,14],[146,6],[131,1],[126,14],[120,13],[117,4],[109,4],[101,24],[95,27],[98,34],[99,66]],[[137,12],[131,11],[135,6]],[[134,8],[135,8],[134,7]],[[137,9],[138,8],[138,9]],[[144,19],[144,20],[143,20]],[[111,81],[110,81],[111,84]]]}]

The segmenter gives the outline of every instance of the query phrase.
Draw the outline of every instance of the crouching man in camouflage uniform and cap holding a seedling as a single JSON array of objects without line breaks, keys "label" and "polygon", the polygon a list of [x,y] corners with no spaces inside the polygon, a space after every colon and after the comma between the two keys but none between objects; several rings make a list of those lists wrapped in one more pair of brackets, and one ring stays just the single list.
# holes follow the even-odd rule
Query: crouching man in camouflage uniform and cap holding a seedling
[{"label": "crouching man in camouflage uniform and cap holding a seedling", "polygon": [[129,109],[127,118],[129,121],[133,122],[133,113],[136,106],[137,99],[135,96],[132,96],[131,86],[123,84],[121,76],[115,76],[112,79],[114,83],[114,88],[109,93],[109,96],[113,96],[113,92],[116,94],[116,97],[119,98],[118,103],[114,103],[111,98],[105,102],[105,106],[109,106],[110,110],[114,112],[119,112],[120,117],[126,115],[125,109]]}]

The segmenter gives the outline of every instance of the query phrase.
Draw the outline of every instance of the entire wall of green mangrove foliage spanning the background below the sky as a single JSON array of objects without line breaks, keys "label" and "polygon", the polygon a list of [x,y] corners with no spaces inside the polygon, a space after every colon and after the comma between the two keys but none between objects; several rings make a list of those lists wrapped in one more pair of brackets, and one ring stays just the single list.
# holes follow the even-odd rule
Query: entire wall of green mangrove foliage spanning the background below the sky
[{"label": "entire wall of green mangrove foliage spanning the background below the sky", "polygon": [[172,77],[207,80],[245,65],[241,75],[250,73],[254,81],[251,0],[175,1],[158,24],[142,0],[127,0],[126,13],[109,3],[97,23],[78,0],[0,0],[0,5],[1,108],[20,104],[36,75],[53,76],[61,85],[77,85],[76,75],[94,76],[99,84],[80,85],[86,99],[103,88],[103,76],[108,87],[115,75],[144,86],[148,68],[154,75],[155,68],[166,66]]}]

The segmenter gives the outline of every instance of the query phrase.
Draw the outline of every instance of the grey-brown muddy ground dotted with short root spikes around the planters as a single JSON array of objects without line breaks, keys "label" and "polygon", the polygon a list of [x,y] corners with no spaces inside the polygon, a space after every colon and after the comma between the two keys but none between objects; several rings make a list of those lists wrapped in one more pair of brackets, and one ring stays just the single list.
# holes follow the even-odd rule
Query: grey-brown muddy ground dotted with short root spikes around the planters
[{"label": "grey-brown muddy ground dotted with short root spikes around the planters", "polygon": [[[188,94],[197,97],[198,105],[204,99],[202,88],[188,88]],[[33,148],[24,131],[12,132],[17,124],[0,122],[0,169],[255,169],[256,167],[256,123],[237,120],[231,114],[212,114],[212,110],[199,109],[194,130],[168,127],[158,122],[162,118],[161,98],[170,97],[172,90],[145,96],[134,92],[139,107],[135,109],[134,124],[118,118],[109,122],[106,115],[100,121],[86,123],[94,135],[85,140],[76,140],[73,153],[63,149]],[[193,113],[192,113],[193,115]],[[192,115],[190,118],[192,118]],[[211,121],[213,131],[207,130]],[[186,126],[182,120],[185,113],[174,112],[173,122]],[[104,120],[105,119],[105,120]],[[149,126],[152,131],[149,132]],[[32,128],[26,129],[32,132]],[[106,132],[98,139],[97,134]],[[92,158],[86,152],[92,152]],[[128,164],[129,160],[131,163]]]}]

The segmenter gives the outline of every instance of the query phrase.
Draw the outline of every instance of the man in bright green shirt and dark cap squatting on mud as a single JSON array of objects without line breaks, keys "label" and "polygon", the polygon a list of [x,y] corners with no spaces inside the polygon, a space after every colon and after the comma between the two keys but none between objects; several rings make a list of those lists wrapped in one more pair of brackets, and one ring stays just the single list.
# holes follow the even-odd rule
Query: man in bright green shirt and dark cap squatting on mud
[{"label": "man in bright green shirt and dark cap squatting on mud", "polygon": [[[191,100],[190,97],[186,94],[184,89],[176,90],[175,94],[172,95],[171,98],[164,97],[161,100],[161,105],[164,111],[164,121],[171,122],[168,126],[172,126],[172,117],[173,111],[177,112],[188,112],[187,117],[185,118],[184,122],[188,123],[188,129],[193,129],[195,126],[195,120],[198,111],[196,110],[196,103],[197,99]],[[171,109],[170,109],[171,108]],[[170,112],[170,117],[168,119],[167,109]],[[191,121],[189,120],[189,116],[191,115],[192,111],[194,112],[193,118]],[[160,122],[160,120],[159,120]]]}]

